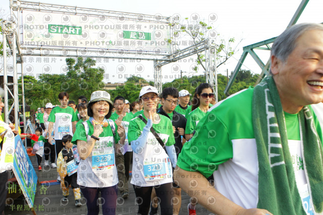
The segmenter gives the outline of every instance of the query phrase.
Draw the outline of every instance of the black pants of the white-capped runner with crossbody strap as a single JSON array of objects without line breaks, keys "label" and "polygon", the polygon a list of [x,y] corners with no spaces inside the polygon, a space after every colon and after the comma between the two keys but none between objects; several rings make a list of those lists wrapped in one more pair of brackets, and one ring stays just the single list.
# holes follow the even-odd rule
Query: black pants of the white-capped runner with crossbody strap
[{"label": "black pants of the white-capped runner with crossbody strap", "polygon": [[174,191],[172,188],[172,183],[161,184],[158,186],[151,187],[139,187],[133,185],[136,194],[136,203],[139,205],[138,213],[141,215],[146,215],[149,212],[150,208],[150,196],[152,188],[155,188],[156,195],[159,198],[160,211],[161,215],[172,215],[173,214],[173,205],[172,198],[174,196]]}]

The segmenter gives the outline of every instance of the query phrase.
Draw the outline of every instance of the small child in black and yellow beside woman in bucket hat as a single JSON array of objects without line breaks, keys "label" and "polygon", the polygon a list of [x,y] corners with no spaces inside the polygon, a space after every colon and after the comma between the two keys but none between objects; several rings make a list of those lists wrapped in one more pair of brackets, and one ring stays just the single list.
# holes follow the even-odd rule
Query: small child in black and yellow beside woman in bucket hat
[{"label": "small child in black and yellow beside woman in bucket hat", "polygon": [[61,186],[63,190],[63,202],[68,202],[69,186],[71,185],[74,198],[75,206],[81,206],[81,192],[79,185],[77,184],[77,167],[74,162],[74,155],[72,151],[73,144],[71,143],[72,136],[67,134],[63,136],[62,143],[63,148],[57,158],[57,172],[61,176]]}]

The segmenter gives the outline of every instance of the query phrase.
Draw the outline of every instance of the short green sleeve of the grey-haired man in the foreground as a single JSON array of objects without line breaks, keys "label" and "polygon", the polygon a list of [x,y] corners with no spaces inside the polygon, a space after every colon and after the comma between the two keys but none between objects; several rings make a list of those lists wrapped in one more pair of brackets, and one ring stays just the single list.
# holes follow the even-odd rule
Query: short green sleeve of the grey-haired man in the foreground
[{"label": "short green sleeve of the grey-haired man in the foreground", "polygon": [[[208,112],[214,114],[214,112]],[[200,128],[186,142],[178,157],[177,166],[191,172],[200,172],[208,178],[220,164],[233,157],[232,142],[225,124],[218,118],[203,117]]]}]

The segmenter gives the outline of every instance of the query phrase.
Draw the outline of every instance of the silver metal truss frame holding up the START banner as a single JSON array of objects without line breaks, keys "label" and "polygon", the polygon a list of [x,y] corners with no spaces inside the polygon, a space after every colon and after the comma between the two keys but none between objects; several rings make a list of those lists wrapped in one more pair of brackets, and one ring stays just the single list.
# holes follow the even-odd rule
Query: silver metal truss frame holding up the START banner
[{"label": "silver metal truss frame holding up the START banner", "polygon": [[[213,88],[214,92],[216,92],[216,99],[218,101],[218,85],[217,85],[217,68],[216,68],[216,51],[214,45],[210,45],[208,39],[200,41],[194,45],[186,47],[184,49],[173,52],[174,47],[171,46],[171,55],[168,54],[155,54],[151,55],[150,53],[140,52],[138,55],[138,50],[133,50],[129,52],[120,52],[120,50],[107,50],[107,49],[90,49],[90,48],[59,48],[59,47],[28,47],[21,46],[20,44],[20,36],[22,35],[20,29],[20,21],[21,21],[21,11],[22,10],[37,10],[43,12],[50,13],[65,13],[65,14],[85,14],[91,16],[108,16],[108,17],[118,17],[118,16],[127,16],[127,19],[136,20],[138,16],[142,14],[134,14],[134,13],[122,13],[116,11],[106,11],[106,10],[97,10],[97,9],[88,9],[88,8],[78,8],[71,6],[59,6],[52,4],[42,4],[42,3],[34,3],[34,2],[24,2],[19,0],[10,0],[10,9],[11,9],[11,20],[9,22],[2,22],[2,32],[3,32],[3,58],[4,58],[4,88],[5,88],[5,122],[9,122],[8,113],[11,112],[13,108],[19,110],[19,95],[22,96],[22,110],[23,110],[23,120],[26,129],[26,117],[25,117],[25,96],[24,96],[24,74],[23,74],[23,56],[53,56],[53,57],[87,57],[87,58],[112,58],[112,59],[134,59],[134,60],[147,60],[154,61],[154,86],[158,89],[158,92],[162,91],[162,82],[161,82],[161,67],[176,62],[180,59],[187,58],[189,56],[195,55],[196,53],[200,53],[205,51],[205,62],[207,71],[205,71],[206,82],[209,83]],[[17,11],[17,16],[14,14],[14,11]],[[154,22],[156,16],[152,15],[142,15],[145,17],[146,21]],[[13,21],[13,17],[17,20]],[[169,23],[169,17],[159,16],[158,20],[155,21],[157,23]],[[17,27],[18,26],[18,27]],[[172,34],[172,28],[171,28]],[[11,58],[13,60],[14,67],[14,93],[12,94],[9,90],[8,86],[11,85],[7,80],[7,44],[9,46],[10,52],[12,53]],[[135,55],[135,56],[134,56]],[[17,65],[21,64],[21,73],[17,73]],[[21,75],[22,79],[22,94],[18,94],[18,75]],[[14,102],[9,109],[8,104],[8,93],[11,93],[14,98]],[[19,126],[19,116],[15,114],[15,125],[16,129]],[[26,142],[25,142],[26,145]]]}]

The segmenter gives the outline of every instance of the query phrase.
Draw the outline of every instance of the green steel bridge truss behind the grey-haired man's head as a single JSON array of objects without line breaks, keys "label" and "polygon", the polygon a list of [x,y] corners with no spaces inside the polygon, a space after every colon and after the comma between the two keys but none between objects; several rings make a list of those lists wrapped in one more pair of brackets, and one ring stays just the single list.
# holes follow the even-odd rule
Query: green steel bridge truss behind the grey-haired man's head
[{"label": "green steel bridge truss behind the grey-haired man's head", "polygon": [[[289,22],[287,28],[291,27],[292,25],[295,25],[296,22],[298,21],[300,15],[302,14],[302,12],[304,11],[307,3],[309,0],[302,0],[302,2],[300,3],[300,5],[298,6],[294,16],[292,17],[291,21]],[[232,77],[230,77],[229,83],[227,84],[224,93],[228,94],[229,90],[234,82],[234,80],[236,79],[238,72],[240,71],[240,68],[244,62],[244,60],[246,59],[248,53],[251,55],[251,57],[255,60],[255,62],[258,64],[258,66],[261,68],[261,74],[258,78],[258,80],[256,81],[256,84],[258,84],[266,75],[269,74],[269,69],[270,69],[270,65],[271,65],[271,59],[268,59],[267,63],[264,64],[260,58],[257,56],[257,54],[254,52],[253,49],[262,49],[262,50],[271,50],[271,46],[269,44],[273,43],[275,41],[277,37],[273,37],[271,39],[266,39],[263,40],[261,42],[257,42],[251,45],[247,45],[243,47],[243,52],[241,55],[241,58],[235,68],[235,70],[233,71]],[[265,47],[263,47],[265,46]]]}]

